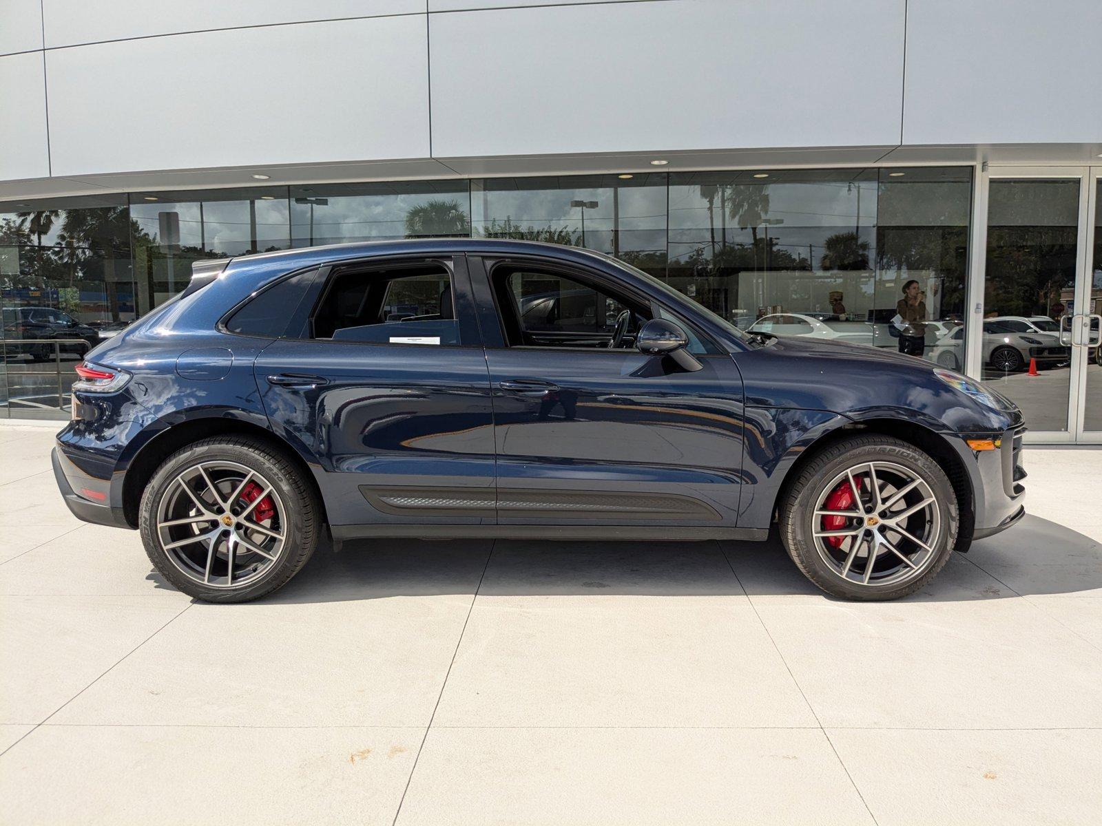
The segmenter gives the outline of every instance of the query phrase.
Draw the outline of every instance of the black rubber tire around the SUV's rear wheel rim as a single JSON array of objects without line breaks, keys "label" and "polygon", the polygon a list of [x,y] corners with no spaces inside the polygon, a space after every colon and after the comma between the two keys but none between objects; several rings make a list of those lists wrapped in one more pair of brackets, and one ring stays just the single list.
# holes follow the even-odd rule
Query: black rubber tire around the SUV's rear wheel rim
[{"label": "black rubber tire around the SUV's rear wheel rim", "polygon": [[[163,546],[172,543],[162,543],[162,531],[158,530],[159,514],[166,504],[165,497],[172,494],[174,489],[179,491],[181,475],[205,463],[229,463],[259,475],[259,478],[271,486],[276,494],[274,501],[282,508],[280,519],[284,524],[280,528],[283,540],[279,552],[273,554],[274,558],[264,557],[263,562],[259,562],[261,557],[256,557],[258,566],[267,567],[252,578],[246,577],[246,582],[240,586],[230,584],[209,587],[193,579],[182,567],[177,567],[177,562],[173,558],[179,559],[179,557],[173,557],[172,552]],[[213,520],[210,524],[218,528],[217,520]],[[322,517],[312,486],[278,450],[260,439],[247,436],[216,436],[188,445],[161,464],[142,494],[139,529],[150,562],[165,579],[184,594],[207,602],[247,602],[283,587],[302,569],[317,546],[322,533]],[[201,546],[199,553],[203,553],[202,547],[209,546]],[[238,550],[237,553],[249,558],[247,551]],[[209,563],[207,564],[209,568]],[[231,583],[231,565],[230,569]]]}]

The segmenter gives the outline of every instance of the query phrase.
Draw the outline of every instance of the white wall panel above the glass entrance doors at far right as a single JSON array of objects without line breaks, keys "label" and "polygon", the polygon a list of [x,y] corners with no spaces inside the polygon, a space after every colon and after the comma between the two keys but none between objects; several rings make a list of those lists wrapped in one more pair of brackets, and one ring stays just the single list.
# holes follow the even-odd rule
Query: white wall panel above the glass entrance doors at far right
[{"label": "white wall panel above the glass entrance doors at far right", "polygon": [[910,0],[904,142],[1102,141],[1100,0]]}]

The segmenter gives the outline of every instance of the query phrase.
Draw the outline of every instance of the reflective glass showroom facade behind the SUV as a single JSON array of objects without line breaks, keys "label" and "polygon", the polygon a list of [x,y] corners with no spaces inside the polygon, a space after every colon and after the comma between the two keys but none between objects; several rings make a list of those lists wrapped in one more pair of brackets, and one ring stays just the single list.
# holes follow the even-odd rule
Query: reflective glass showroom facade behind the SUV
[{"label": "reflective glass showroom facade behind the SUV", "polygon": [[[973,174],[974,166],[655,172],[0,202],[0,416],[64,416],[72,363],[180,292],[195,261],[475,237],[606,252],[743,329],[906,347],[947,367],[971,366],[1005,380],[1042,431],[1067,431],[1068,400],[1077,400],[1069,388],[1085,385],[1074,384],[1059,326],[1078,312],[1084,239],[1077,233],[1098,221],[1093,210],[1087,218],[1083,196],[1098,184],[993,175],[976,208]],[[987,229],[979,259],[970,249],[977,211]],[[1093,303],[1096,293],[1102,308],[1100,256],[1100,283],[1084,294]],[[986,265],[985,318],[969,361],[965,343],[980,335],[965,327],[970,301],[980,300],[969,296],[977,260]],[[1026,326],[1015,320],[1023,318]],[[1045,392],[1018,380],[1034,355],[1050,372]],[[1102,370],[1102,352],[1089,356]],[[1095,407],[1085,396],[1083,406],[1090,420]]]}]

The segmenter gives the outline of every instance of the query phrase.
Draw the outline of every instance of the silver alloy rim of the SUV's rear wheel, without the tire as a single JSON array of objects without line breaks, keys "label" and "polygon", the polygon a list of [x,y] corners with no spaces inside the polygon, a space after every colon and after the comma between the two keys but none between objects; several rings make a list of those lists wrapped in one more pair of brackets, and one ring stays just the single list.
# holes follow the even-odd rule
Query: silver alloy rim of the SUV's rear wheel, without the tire
[{"label": "silver alloy rim of the SUV's rear wheel, without the tire", "polygon": [[[266,499],[270,508],[258,520]],[[287,511],[274,486],[256,470],[236,461],[203,461],[165,488],[156,537],[164,555],[190,579],[207,588],[244,587],[263,576],[283,552]]]}]

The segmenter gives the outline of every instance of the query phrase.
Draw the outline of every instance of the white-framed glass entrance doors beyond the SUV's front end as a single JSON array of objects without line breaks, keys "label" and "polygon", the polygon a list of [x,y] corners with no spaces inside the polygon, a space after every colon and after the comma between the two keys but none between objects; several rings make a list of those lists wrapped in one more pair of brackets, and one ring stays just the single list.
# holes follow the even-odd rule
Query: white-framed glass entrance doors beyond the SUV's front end
[{"label": "white-framed glass entrance doors beyond the SUV's front end", "polygon": [[1098,188],[1084,167],[988,174],[981,371],[1031,442],[1102,441]]}]

